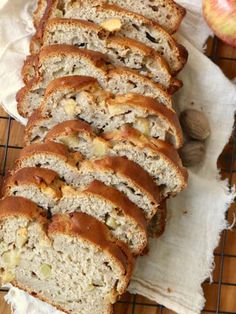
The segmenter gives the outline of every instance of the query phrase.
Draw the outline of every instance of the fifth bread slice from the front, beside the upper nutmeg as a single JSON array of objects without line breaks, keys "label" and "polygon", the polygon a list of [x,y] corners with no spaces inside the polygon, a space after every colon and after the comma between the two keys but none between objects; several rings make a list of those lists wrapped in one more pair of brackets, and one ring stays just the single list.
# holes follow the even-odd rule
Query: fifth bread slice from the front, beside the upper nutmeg
[{"label": "fifth bread slice from the front, beside the upper nutmeg", "polygon": [[[72,77],[58,79],[47,88],[40,112],[35,112],[26,127],[26,144],[42,142],[57,123],[83,119],[95,133],[108,132],[129,123],[142,133],[167,140],[179,148],[182,130],[176,113],[152,98],[136,94],[110,95],[93,81],[78,84]],[[43,119],[43,117],[49,117]],[[82,123],[83,124],[83,123]],[[82,126],[85,127],[85,123]]]}]

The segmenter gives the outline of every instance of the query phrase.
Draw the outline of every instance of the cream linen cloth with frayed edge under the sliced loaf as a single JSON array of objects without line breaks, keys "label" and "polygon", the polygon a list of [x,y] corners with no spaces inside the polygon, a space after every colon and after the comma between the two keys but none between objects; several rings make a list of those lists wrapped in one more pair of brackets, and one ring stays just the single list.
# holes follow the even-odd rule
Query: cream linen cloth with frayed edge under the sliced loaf
[{"label": "cream linen cloth with frayed edge under the sliced loaf", "polygon": [[[0,102],[25,123],[17,113],[15,94],[22,85],[20,70],[34,32],[30,17],[34,3],[4,2],[0,10]],[[189,107],[203,110],[210,121],[211,136],[204,163],[189,169],[188,188],[168,202],[166,231],[151,240],[149,254],[138,259],[129,291],[177,313],[195,314],[204,306],[201,284],[211,275],[213,250],[227,227],[224,214],[235,197],[234,192],[229,193],[227,181],[220,181],[216,161],[231,134],[236,88],[200,51],[211,33],[201,16],[201,1],[178,2],[188,9],[178,40],[188,49],[189,61],[179,75],[184,87],[175,103],[179,111]],[[51,307],[46,310],[46,304],[42,307],[41,301],[15,288],[7,300],[15,304],[16,314],[59,313]]]}]

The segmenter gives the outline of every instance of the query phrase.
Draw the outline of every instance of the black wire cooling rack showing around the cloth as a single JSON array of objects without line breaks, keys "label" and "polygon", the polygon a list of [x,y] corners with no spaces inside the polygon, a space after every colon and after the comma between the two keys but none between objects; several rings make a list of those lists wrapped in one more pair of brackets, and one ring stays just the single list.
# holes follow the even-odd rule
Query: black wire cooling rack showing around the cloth
[{"label": "black wire cooling rack showing around the cloth", "polygon": [[[232,67],[236,76],[236,52],[231,56],[220,54],[220,42],[214,38],[210,43],[207,55],[215,63],[224,69],[224,62],[227,68]],[[229,66],[230,63],[230,66]],[[222,95],[223,96],[223,95]],[[235,100],[236,107],[236,100]],[[22,149],[23,127],[13,118],[0,112],[0,160],[1,176],[11,169],[14,160]],[[234,128],[230,142],[226,145],[224,152],[219,158],[222,178],[229,179],[229,189],[236,184],[236,128]],[[236,204],[228,211],[227,217],[231,220],[235,212]],[[206,308],[203,313],[236,313],[236,229],[225,230],[222,233],[221,242],[215,251],[216,269],[213,274],[213,282],[206,281],[203,285],[207,299]],[[2,290],[3,291],[3,290]],[[157,314],[171,313],[163,306],[156,304],[141,296],[126,294],[116,305],[115,314]],[[0,314],[6,314],[5,311]]]}]

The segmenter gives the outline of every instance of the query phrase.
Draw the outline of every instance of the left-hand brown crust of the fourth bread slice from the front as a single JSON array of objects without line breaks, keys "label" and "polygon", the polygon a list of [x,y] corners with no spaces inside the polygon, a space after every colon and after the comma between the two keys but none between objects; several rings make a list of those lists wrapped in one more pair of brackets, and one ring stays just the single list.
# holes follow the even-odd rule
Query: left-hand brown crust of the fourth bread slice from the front
[{"label": "left-hand brown crust of the fourth bread slice from the front", "polygon": [[82,120],[69,120],[54,126],[45,137],[45,141],[53,141],[58,136],[66,136],[77,133],[86,133],[90,137],[95,137],[91,126]]}]

